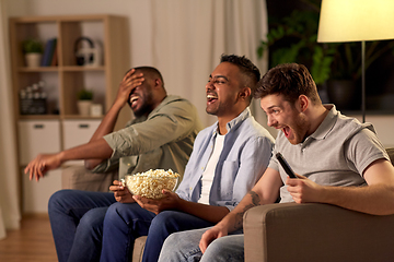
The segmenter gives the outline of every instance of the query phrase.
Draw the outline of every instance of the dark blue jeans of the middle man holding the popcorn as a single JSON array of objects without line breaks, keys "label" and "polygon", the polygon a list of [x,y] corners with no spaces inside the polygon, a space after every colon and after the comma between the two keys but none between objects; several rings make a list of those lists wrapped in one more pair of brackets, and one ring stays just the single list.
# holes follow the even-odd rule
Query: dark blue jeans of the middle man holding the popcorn
[{"label": "dark blue jeans of the middle man holding the popcorn", "polygon": [[104,219],[101,261],[130,261],[134,241],[139,236],[148,236],[142,261],[158,261],[170,234],[212,225],[183,212],[164,211],[155,215],[136,203],[115,203]]}]

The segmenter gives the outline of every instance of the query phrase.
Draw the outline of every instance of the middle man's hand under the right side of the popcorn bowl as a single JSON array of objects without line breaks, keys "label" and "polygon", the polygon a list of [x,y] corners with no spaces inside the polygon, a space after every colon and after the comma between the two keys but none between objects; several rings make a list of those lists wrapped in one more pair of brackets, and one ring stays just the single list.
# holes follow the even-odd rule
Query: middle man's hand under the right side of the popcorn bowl
[{"label": "middle man's hand under the right side of the popcorn bowl", "polygon": [[176,210],[179,196],[169,190],[163,189],[164,198],[162,199],[147,199],[140,195],[132,195],[132,199],[142,207],[154,214],[159,214],[166,210]]}]

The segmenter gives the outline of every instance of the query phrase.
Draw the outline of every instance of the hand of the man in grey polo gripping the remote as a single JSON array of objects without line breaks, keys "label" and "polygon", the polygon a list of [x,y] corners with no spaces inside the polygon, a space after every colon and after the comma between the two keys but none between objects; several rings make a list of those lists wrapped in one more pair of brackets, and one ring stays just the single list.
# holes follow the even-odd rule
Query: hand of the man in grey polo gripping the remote
[{"label": "hand of the man in grey polo gripping the remote", "polygon": [[316,203],[322,202],[323,188],[304,176],[296,174],[298,178],[287,178],[288,191],[296,203]]}]

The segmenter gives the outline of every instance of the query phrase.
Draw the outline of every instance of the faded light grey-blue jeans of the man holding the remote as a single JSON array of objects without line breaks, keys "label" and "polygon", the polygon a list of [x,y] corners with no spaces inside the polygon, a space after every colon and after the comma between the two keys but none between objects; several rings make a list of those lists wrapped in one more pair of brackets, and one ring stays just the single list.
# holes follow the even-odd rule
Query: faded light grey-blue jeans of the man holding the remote
[{"label": "faded light grey-blue jeans of the man holding the remote", "polygon": [[209,228],[174,233],[164,241],[159,262],[243,262],[244,236],[241,231],[213,240],[202,254],[198,245]]}]

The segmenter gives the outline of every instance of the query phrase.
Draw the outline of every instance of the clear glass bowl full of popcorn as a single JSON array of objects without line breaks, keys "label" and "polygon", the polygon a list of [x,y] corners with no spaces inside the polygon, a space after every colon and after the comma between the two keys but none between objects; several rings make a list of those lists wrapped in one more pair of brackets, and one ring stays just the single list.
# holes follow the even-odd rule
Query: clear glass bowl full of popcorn
[{"label": "clear glass bowl full of popcorn", "polygon": [[148,199],[161,199],[164,198],[163,189],[175,190],[178,178],[179,175],[171,169],[167,171],[150,169],[146,172],[125,176],[123,183],[132,194]]}]

